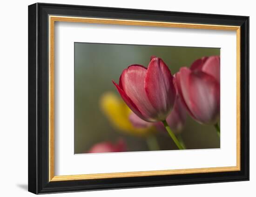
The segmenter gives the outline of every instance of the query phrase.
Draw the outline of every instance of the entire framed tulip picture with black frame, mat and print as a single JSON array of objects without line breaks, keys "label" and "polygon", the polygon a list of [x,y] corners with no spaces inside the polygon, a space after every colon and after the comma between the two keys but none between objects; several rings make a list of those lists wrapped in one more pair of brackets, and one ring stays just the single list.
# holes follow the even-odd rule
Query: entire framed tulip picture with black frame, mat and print
[{"label": "entire framed tulip picture with black frame, mat and print", "polygon": [[28,6],[28,191],[249,180],[249,17]]}]

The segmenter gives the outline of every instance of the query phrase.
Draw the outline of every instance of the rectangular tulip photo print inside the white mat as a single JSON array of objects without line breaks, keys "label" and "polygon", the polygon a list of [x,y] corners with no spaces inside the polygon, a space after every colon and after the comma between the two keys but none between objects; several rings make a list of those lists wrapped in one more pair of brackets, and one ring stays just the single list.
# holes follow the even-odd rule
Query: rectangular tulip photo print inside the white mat
[{"label": "rectangular tulip photo print inside the white mat", "polygon": [[220,148],[220,48],[74,43],[74,153]]}]

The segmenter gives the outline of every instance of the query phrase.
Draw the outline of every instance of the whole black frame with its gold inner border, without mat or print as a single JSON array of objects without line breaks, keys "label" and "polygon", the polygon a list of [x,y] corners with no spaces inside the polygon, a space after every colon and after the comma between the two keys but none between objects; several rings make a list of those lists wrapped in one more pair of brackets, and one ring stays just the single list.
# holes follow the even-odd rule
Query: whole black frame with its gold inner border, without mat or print
[{"label": "whole black frame with its gold inner border, without mat or print", "polygon": [[[236,166],[54,176],[55,21],[236,31]],[[37,3],[29,6],[28,45],[29,191],[38,194],[249,179],[249,17]]]}]

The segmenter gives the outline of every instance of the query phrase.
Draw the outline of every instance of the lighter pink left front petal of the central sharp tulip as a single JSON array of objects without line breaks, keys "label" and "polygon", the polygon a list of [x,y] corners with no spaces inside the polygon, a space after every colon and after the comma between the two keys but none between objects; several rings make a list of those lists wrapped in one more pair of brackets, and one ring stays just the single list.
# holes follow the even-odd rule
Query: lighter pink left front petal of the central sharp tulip
[{"label": "lighter pink left front petal of the central sharp tulip", "polygon": [[141,65],[131,65],[125,69],[120,78],[120,84],[123,92],[130,98],[138,111],[142,114],[137,114],[144,121],[155,121],[157,116],[155,108],[151,105],[144,89],[144,78],[147,69]]}]

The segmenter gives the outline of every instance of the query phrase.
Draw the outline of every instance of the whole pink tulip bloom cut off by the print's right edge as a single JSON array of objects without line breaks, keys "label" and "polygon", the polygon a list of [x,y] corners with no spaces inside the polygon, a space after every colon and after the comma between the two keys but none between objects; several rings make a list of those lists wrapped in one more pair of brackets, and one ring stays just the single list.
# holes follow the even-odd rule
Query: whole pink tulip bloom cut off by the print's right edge
[{"label": "whole pink tulip bloom cut off by the print's right edge", "polygon": [[220,57],[203,57],[176,74],[178,93],[198,122],[216,124],[220,115]]}]

